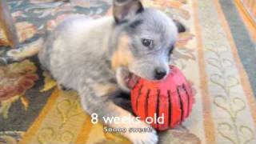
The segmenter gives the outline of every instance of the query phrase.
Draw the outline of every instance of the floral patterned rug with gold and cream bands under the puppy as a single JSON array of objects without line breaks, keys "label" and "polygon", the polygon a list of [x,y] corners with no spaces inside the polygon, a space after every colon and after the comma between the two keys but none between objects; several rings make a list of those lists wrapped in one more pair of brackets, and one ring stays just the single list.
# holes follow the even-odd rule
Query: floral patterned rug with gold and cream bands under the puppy
[{"label": "floral patterned rug with gold and cream bands under the puppy", "polygon": [[[21,50],[74,14],[111,14],[111,0],[9,0]],[[186,24],[174,63],[193,82],[190,118],[160,133],[163,144],[256,143],[256,48],[232,0],[143,0]],[[0,57],[8,42],[0,30]],[[0,66],[0,143],[130,143],[82,111],[78,94],[58,90],[36,57]]]}]

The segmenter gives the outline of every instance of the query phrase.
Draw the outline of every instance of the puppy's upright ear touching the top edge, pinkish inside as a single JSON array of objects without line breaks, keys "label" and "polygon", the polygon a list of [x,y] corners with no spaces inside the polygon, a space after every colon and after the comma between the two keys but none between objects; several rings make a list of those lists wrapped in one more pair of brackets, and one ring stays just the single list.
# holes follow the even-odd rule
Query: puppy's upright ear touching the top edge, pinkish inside
[{"label": "puppy's upright ear touching the top edge, pinkish inside", "polygon": [[114,19],[117,23],[126,22],[144,10],[139,0],[114,0],[113,6]]}]

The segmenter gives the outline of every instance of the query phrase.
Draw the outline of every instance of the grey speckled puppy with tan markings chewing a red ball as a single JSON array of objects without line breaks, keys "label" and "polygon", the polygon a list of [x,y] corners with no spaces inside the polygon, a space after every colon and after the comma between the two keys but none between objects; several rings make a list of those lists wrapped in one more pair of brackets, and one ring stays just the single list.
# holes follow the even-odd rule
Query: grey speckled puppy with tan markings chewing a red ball
[{"label": "grey speckled puppy with tan markings chewing a red ball", "polygon": [[[113,17],[66,19],[46,38],[38,54],[58,84],[77,90],[83,109],[98,114],[99,120],[131,115],[113,102],[114,95],[129,92],[127,83],[138,76],[165,78],[178,32],[185,30],[161,11],[144,8],[138,0],[114,0],[113,4]],[[127,130],[150,127],[141,121],[106,125]],[[158,142],[155,130],[122,135],[136,144]]]}]

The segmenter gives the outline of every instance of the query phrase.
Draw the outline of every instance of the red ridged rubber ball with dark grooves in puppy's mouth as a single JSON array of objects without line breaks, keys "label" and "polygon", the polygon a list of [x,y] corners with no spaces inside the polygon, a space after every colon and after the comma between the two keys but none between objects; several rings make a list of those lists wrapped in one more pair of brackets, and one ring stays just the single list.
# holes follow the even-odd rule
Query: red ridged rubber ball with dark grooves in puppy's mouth
[{"label": "red ridged rubber ball with dark grooves in puppy's mouth", "polygon": [[[143,121],[163,118],[151,123],[157,130],[167,130],[180,125],[192,110],[194,94],[190,83],[177,67],[170,66],[170,74],[162,81],[152,82],[140,78],[131,90],[134,114]],[[148,118],[148,122],[150,119]]]}]

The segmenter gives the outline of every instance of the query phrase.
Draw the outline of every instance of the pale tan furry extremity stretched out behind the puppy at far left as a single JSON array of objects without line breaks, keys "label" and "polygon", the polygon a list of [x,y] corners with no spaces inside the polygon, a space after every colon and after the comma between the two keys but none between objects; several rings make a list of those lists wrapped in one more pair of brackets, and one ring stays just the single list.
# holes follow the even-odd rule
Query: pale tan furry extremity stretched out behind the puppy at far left
[{"label": "pale tan furry extremity stretched out behind the puppy at far left", "polygon": [[11,62],[21,62],[25,58],[30,58],[38,54],[39,50],[42,49],[43,38],[39,38],[37,41],[32,42],[26,46],[22,46],[19,49],[9,50],[6,52],[4,58],[0,58],[0,61],[4,64]]}]

